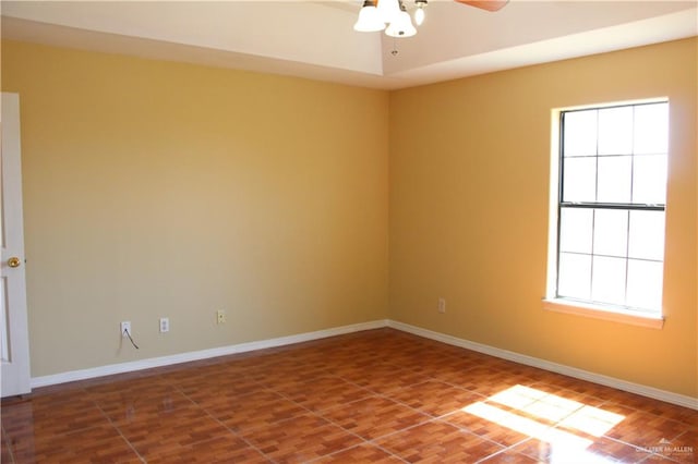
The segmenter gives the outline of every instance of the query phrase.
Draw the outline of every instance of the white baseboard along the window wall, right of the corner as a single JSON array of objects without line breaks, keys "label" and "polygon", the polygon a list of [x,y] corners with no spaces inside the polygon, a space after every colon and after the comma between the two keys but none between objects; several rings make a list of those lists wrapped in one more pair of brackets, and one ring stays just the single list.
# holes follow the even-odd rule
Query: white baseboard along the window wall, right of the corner
[{"label": "white baseboard along the window wall, right of the corner", "polygon": [[479,353],[489,354],[503,359],[513,361],[515,363],[524,364],[527,366],[538,367],[541,369],[550,370],[552,373],[563,374],[565,376],[574,377],[576,379],[588,380],[593,383],[599,383],[606,387],[612,387],[618,390],[627,391],[630,393],[641,394],[642,396],[653,398],[655,400],[665,401],[667,403],[677,404],[684,407],[690,407],[698,410],[698,399],[687,396],[684,394],[673,393],[671,391],[660,390],[652,387],[642,386],[639,383],[633,383],[625,380],[616,379],[613,377],[603,376],[601,374],[589,373],[587,370],[577,369],[576,367],[565,366],[563,364],[551,363],[550,361],[540,359],[533,356],[527,356],[510,352],[507,350],[497,349],[482,343],[471,342],[469,340],[459,339],[457,337],[447,335],[441,332],[434,332],[432,330],[422,329],[420,327],[410,326],[408,323],[398,322],[396,320],[388,320],[388,327],[392,327],[404,332],[413,333],[416,335],[424,337],[425,339],[436,340],[449,345],[460,346],[467,350],[477,351]]}]

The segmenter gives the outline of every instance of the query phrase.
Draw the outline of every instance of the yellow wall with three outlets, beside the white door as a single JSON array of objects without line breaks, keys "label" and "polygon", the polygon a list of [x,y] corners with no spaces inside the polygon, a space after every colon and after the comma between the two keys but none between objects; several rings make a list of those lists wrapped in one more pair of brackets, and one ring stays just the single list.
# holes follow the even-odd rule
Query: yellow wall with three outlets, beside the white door
[{"label": "yellow wall with three outlets, beside the white door", "polygon": [[387,316],[387,93],[21,42],[2,89],[33,376]]}]

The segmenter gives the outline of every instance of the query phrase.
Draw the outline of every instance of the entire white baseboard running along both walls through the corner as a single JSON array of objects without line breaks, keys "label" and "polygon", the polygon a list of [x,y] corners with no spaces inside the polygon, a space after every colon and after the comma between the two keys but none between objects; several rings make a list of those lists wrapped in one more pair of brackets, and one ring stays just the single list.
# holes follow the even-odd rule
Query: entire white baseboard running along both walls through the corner
[{"label": "entire white baseboard running along both walls through the corner", "polygon": [[280,337],[277,339],[261,340],[256,342],[240,343],[237,345],[221,346],[212,350],[202,350],[189,353],[181,353],[171,356],[153,357],[149,359],[134,361],[130,363],[111,364],[107,366],[94,367],[91,369],[71,370],[68,373],[55,374],[51,376],[34,377],[32,378],[32,388],[47,387],[58,383],[72,382],[76,380],[92,379],[96,377],[111,376],[115,374],[132,373],[136,370],[149,369],[153,367],[170,366],[173,364],[188,363],[192,361],[207,359],[217,356],[226,356],[236,353],[245,353],[255,350],[264,350],[276,346],[284,346],[293,343],[308,342],[312,340],[325,339],[328,337],[341,335],[345,333],[359,332],[362,330],[380,329],[383,327],[390,327],[404,332],[413,333],[426,339],[436,340],[449,345],[460,346],[467,350],[477,351],[479,353],[489,354],[491,356],[500,357],[515,363],[524,364],[527,366],[538,367],[541,369],[550,370],[565,376],[574,377],[581,380],[588,380],[590,382],[599,383],[606,387],[616,388],[618,390],[628,391],[630,393],[641,394],[643,396],[653,398],[655,400],[665,401],[667,403],[677,404],[684,407],[690,407],[698,410],[698,399],[687,396],[678,393],[673,393],[665,390],[655,389],[638,383],[628,382],[625,380],[616,379],[613,377],[603,376],[600,374],[589,373],[587,370],[578,369],[576,367],[565,366],[563,364],[551,363],[545,359],[540,359],[532,356],[502,350],[498,347],[485,345],[482,343],[471,342],[469,340],[459,339],[457,337],[447,335],[441,332],[434,332],[432,330],[422,329],[420,327],[410,326],[408,323],[399,322],[396,320],[374,320],[371,322],[354,323],[350,326],[342,326],[333,329],[318,330],[315,332],[299,333],[296,335]]}]

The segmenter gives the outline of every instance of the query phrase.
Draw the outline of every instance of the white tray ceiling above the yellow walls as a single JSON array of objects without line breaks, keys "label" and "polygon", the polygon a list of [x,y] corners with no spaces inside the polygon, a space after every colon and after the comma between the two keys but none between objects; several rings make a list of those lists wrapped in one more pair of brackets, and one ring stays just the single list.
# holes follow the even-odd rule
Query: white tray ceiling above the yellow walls
[{"label": "white tray ceiling above the yellow walls", "polygon": [[2,0],[0,12],[2,38],[388,89],[698,35],[698,0],[512,0],[496,13],[430,0],[399,39],[354,32],[361,3]]}]

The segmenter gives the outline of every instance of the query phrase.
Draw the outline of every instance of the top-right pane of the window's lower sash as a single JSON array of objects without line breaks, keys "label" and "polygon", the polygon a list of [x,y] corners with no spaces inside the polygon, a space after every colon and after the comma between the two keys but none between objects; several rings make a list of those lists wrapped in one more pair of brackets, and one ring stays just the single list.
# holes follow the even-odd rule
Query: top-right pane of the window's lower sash
[{"label": "top-right pane of the window's lower sash", "polygon": [[664,211],[630,211],[628,256],[664,259]]}]

